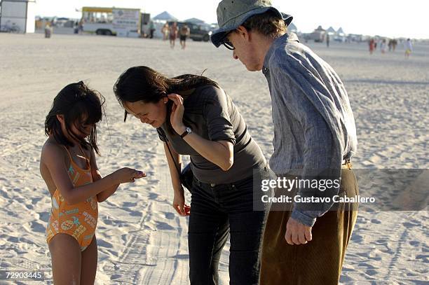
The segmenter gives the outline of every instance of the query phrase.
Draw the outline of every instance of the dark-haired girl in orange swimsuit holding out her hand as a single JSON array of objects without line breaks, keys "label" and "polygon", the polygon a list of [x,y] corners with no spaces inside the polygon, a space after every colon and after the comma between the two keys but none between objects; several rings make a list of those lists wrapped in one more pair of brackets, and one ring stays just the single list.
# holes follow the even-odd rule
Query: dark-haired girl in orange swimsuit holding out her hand
[{"label": "dark-haired girl in orange swimsuit holding out her hand", "polygon": [[104,98],[82,81],[63,88],[45,121],[40,172],[51,195],[46,241],[55,284],[93,284],[97,271],[98,202],[119,184],[146,176],[122,168],[102,178],[95,161],[96,124]]}]

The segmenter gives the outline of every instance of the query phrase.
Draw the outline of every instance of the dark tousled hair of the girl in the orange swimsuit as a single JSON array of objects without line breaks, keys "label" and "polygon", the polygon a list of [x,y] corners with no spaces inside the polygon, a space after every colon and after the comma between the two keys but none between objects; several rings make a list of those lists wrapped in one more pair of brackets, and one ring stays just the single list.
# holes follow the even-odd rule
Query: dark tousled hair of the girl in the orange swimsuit
[{"label": "dark tousled hair of the girl in the orange swimsuit", "polygon": [[[97,146],[97,123],[102,120],[104,97],[95,90],[90,90],[85,83],[71,83],[55,97],[52,107],[46,116],[45,134],[53,135],[58,144],[64,146],[74,146],[74,144],[65,137],[61,130],[60,121],[57,115],[64,116],[64,123],[67,133],[70,137],[79,141],[83,148],[92,147],[100,155]],[[93,130],[87,139],[81,139],[71,130],[74,125],[79,132],[83,132],[83,125],[94,124]]]}]

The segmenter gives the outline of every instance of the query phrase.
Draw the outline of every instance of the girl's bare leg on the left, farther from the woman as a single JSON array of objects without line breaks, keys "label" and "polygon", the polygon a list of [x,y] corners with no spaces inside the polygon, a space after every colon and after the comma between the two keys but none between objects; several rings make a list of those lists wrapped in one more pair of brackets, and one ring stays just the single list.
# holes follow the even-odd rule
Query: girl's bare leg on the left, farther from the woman
[{"label": "girl's bare leg on the left, farther from the woman", "polygon": [[48,244],[52,258],[54,284],[79,285],[81,282],[81,246],[71,235],[55,235]]}]

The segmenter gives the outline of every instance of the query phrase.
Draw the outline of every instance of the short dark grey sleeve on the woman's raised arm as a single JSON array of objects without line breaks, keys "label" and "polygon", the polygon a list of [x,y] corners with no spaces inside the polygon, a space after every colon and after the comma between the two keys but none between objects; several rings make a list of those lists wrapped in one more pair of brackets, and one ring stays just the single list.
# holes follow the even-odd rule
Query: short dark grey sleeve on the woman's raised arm
[{"label": "short dark grey sleeve on the woman's raised arm", "polygon": [[211,141],[230,141],[231,144],[236,144],[226,94],[219,88],[212,90],[216,92],[207,96],[203,106],[208,137]]}]

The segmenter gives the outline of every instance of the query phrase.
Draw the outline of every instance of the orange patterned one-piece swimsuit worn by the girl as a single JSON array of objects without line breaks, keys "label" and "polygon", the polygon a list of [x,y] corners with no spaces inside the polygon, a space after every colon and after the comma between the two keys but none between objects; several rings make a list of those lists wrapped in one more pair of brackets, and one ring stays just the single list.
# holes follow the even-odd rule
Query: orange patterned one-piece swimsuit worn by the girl
[{"label": "orange patterned one-piece swimsuit worn by the girl", "polygon": [[[65,148],[65,147],[64,147]],[[93,182],[90,161],[86,158],[83,149],[81,151],[86,159],[88,169],[82,169],[71,158],[69,150],[65,148],[70,158],[69,177],[73,186],[79,187]],[[84,202],[67,204],[58,189],[51,197],[52,209],[46,228],[46,242],[59,233],[71,235],[79,242],[81,251],[84,251],[93,240],[97,226],[98,206],[97,196],[90,197]]]}]

